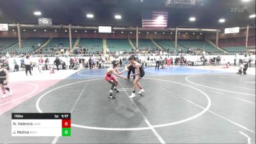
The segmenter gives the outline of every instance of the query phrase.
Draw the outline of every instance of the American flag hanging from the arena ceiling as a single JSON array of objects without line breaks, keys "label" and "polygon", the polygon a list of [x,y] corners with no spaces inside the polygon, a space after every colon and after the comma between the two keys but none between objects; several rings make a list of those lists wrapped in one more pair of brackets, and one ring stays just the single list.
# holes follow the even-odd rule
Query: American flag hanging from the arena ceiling
[{"label": "American flag hanging from the arena ceiling", "polygon": [[168,12],[142,11],[142,28],[167,28]]}]

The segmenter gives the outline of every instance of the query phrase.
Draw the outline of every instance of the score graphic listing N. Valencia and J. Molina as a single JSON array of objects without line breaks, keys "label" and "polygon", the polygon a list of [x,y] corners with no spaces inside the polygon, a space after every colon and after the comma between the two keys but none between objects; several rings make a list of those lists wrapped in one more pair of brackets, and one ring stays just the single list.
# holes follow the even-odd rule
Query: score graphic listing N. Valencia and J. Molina
[{"label": "score graphic listing N. Valencia and J. Molina", "polygon": [[12,136],[71,136],[71,115],[12,113]]}]

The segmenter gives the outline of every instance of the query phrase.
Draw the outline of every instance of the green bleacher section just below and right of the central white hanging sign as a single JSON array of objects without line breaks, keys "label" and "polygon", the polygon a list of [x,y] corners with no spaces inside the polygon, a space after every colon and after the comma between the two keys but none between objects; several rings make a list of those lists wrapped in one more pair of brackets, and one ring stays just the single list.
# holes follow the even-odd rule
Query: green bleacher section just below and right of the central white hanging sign
[{"label": "green bleacher section just below and right of the central white hanging sign", "polygon": [[124,39],[108,39],[107,45],[108,45],[109,51],[111,52],[132,50],[132,47],[129,41]]}]

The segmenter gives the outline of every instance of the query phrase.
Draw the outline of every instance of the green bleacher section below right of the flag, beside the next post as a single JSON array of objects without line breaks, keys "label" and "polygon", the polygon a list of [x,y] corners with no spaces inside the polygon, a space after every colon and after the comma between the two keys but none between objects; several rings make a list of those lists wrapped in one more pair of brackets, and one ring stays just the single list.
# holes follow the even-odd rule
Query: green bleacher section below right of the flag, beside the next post
[{"label": "green bleacher section below right of the flag, beside the next post", "polygon": [[[160,45],[161,47],[163,47],[163,49],[165,50],[169,50],[170,52],[175,51],[175,42],[173,42],[172,40],[154,40],[158,45]],[[179,44],[177,45],[177,51],[178,50],[182,50],[182,51],[187,51],[186,48],[181,47]]]}]

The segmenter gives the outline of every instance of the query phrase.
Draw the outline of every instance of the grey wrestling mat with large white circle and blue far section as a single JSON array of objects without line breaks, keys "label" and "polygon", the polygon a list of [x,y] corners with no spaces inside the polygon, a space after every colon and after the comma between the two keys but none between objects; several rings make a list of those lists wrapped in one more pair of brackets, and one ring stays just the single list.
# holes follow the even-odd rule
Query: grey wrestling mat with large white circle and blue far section
[{"label": "grey wrestling mat with large white circle and blue far section", "polygon": [[[147,68],[143,95],[129,99],[132,79],[118,79],[108,99],[105,71],[74,72],[0,114],[0,143],[255,143],[255,76]],[[71,112],[72,136],[12,137],[11,113],[24,112]]]}]

